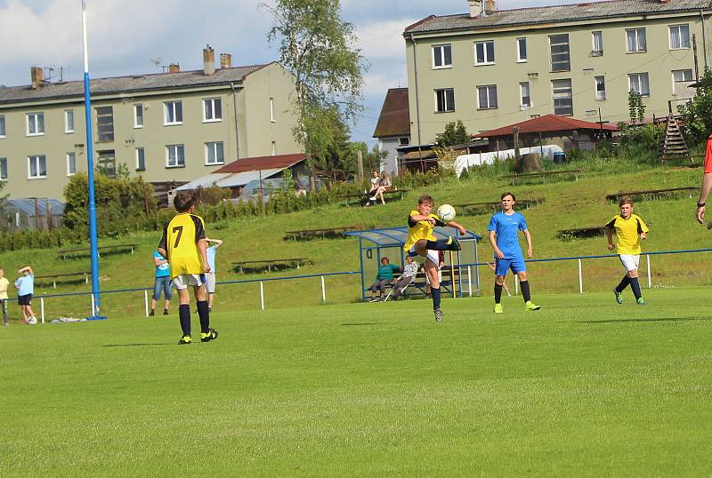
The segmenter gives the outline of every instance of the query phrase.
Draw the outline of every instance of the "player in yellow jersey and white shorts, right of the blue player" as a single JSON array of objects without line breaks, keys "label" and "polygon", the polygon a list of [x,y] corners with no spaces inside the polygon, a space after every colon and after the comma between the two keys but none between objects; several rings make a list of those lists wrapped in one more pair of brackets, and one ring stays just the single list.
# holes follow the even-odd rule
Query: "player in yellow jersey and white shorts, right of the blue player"
[{"label": "player in yellow jersey and white shorts, right of the blue player", "polygon": [[[638,264],[640,263],[640,241],[648,237],[648,229],[640,216],[633,213],[633,200],[622,198],[619,203],[620,214],[616,214],[606,224],[606,236],[608,237],[608,249],[615,247],[616,254],[619,255],[620,262],[626,268],[626,275],[620,281],[618,287],[613,289],[616,294],[616,302],[623,303],[622,292],[630,284],[630,288],[635,295],[635,302],[644,306],[645,301],[640,291],[638,283]],[[613,231],[616,231],[616,245],[613,246]]]}]

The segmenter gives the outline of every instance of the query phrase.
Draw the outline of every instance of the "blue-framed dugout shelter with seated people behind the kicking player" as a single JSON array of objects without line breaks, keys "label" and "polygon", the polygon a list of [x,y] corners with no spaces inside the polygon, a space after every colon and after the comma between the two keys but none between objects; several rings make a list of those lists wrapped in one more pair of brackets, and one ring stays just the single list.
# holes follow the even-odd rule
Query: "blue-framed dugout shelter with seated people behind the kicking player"
[{"label": "blue-framed dugout shelter with seated people behind the kicking player", "polygon": [[[361,276],[361,299],[365,300],[368,287],[376,278],[378,266],[381,258],[387,257],[391,264],[405,266],[406,251],[403,246],[408,241],[408,227],[384,227],[380,229],[366,229],[357,231],[346,231],[344,235],[359,238],[359,261]],[[465,235],[460,235],[455,227],[435,227],[433,235],[436,239],[447,239],[450,235],[457,237],[462,245],[462,251],[445,251],[445,266],[443,271],[449,269],[449,274],[443,274],[441,289],[443,292],[451,294],[452,297],[463,297],[473,291],[480,291],[480,274],[477,268],[479,263],[479,253],[477,243],[481,235],[466,230]],[[425,265],[425,258],[414,258],[420,264]],[[449,278],[448,278],[449,276]],[[409,288],[407,296],[425,295],[425,285],[416,283]]]}]

